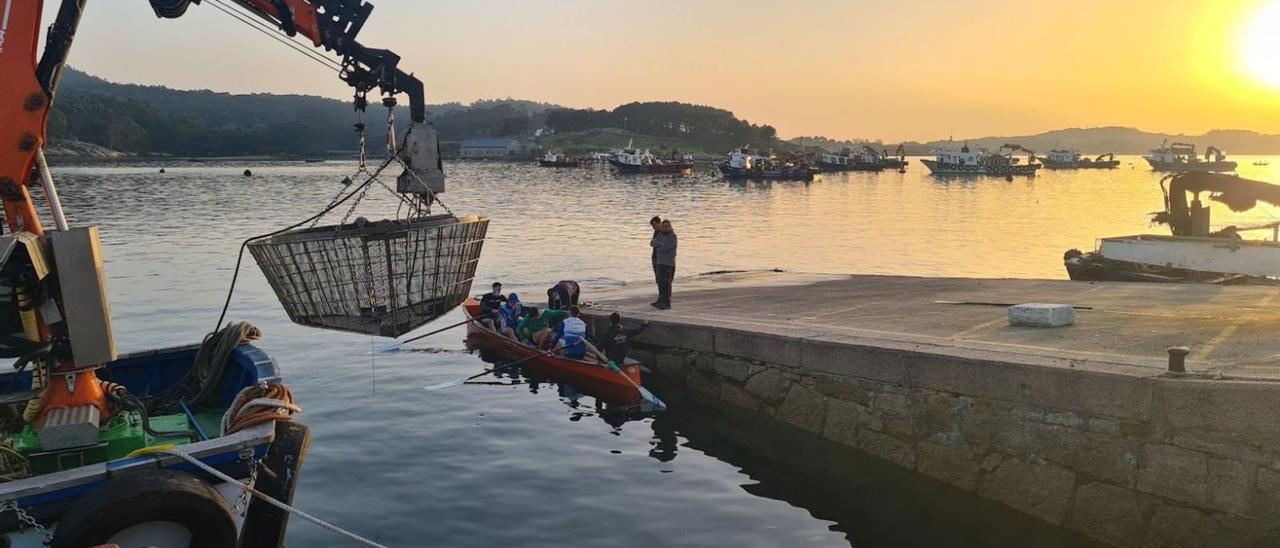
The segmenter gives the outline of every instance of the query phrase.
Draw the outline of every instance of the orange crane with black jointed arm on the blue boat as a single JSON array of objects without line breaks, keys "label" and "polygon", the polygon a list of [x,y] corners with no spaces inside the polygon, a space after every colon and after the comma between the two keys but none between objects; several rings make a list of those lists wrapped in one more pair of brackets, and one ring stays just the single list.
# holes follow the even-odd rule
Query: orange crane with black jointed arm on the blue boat
[{"label": "orange crane with black jointed arm on the blue boat", "polygon": [[[444,174],[439,160],[439,142],[434,129],[425,124],[426,105],[422,82],[399,68],[399,55],[389,50],[366,47],[356,40],[372,12],[371,4],[365,0],[221,1],[234,1],[238,6],[270,22],[284,33],[301,35],[310,40],[314,46],[340,55],[339,78],[356,90],[357,109],[365,108],[367,104],[366,93],[374,90],[385,96],[383,102],[388,108],[396,104],[393,100],[396,95],[406,93],[410,97],[411,118],[415,123],[424,124],[425,128],[416,132],[410,131],[403,146],[398,150],[397,159],[406,168],[398,186],[401,192],[433,198],[435,193],[443,192]],[[28,252],[28,255],[40,255],[40,248],[56,246],[56,241],[70,241],[72,238],[82,238],[83,242],[88,242],[81,248],[96,250],[97,245],[96,232],[92,229],[76,234],[68,233],[70,236],[59,232],[56,238],[44,238],[45,230],[28,191],[28,184],[32,183],[33,172],[38,165],[46,184],[46,193],[50,195],[54,216],[55,219],[60,218],[56,192],[52,192],[52,181],[44,163],[42,150],[59,76],[67,64],[67,56],[86,3],[87,0],[60,0],[58,15],[49,27],[45,50],[37,63],[37,33],[44,13],[44,0],[0,0],[0,82],[3,82],[0,85],[0,201],[4,205],[5,224],[13,233],[12,238],[20,242],[35,242],[32,243],[35,251]],[[182,17],[191,4],[200,4],[201,0],[150,0],[150,3],[157,17],[177,18]],[[59,228],[65,229],[65,227]],[[81,239],[76,239],[76,242],[81,242]],[[58,262],[63,264],[63,259],[70,255],[70,252],[59,254]],[[86,254],[86,256],[90,260],[100,260],[96,251]],[[35,264],[37,260],[32,259],[32,262]],[[31,302],[31,306],[22,311],[23,335],[28,341],[20,346],[23,359],[32,348],[37,348],[38,359],[47,360],[50,371],[56,374],[51,375],[50,384],[41,394],[40,424],[51,411],[86,406],[97,407],[101,411],[100,417],[110,416],[104,392],[93,373],[102,362],[114,359],[109,318],[105,318],[105,293],[100,296],[104,306],[92,312],[104,312],[100,316],[102,316],[102,325],[108,326],[96,333],[101,337],[95,341],[105,339],[102,348],[109,347],[109,350],[93,352],[88,351],[90,347],[84,347],[87,351],[82,352],[77,350],[76,342],[78,339],[87,341],[87,338],[77,335],[68,326],[72,315],[67,312],[69,303],[81,305],[92,300],[73,298],[69,302],[65,300],[63,291],[67,288],[59,287],[56,274],[72,275],[74,274],[72,270],[74,269],[68,268],[67,271],[54,273],[52,283],[41,286],[50,287],[47,292],[27,291],[26,287],[14,289],[17,292],[14,294],[38,294],[41,298],[41,302]],[[96,288],[101,289],[101,284],[99,283]],[[32,287],[32,289],[40,288]],[[27,292],[23,293],[23,291]],[[46,298],[47,301],[45,301]],[[84,318],[83,310],[86,309],[81,307],[76,316]],[[90,333],[90,330],[83,333]],[[0,355],[14,351],[6,346],[6,343],[0,342]],[[110,356],[104,359],[105,353],[110,353]],[[77,385],[88,388],[77,391]],[[92,423],[96,424],[97,419],[93,419]]]}]

